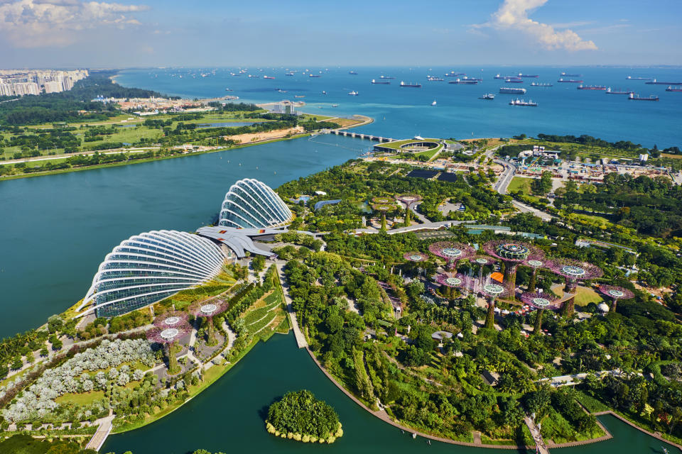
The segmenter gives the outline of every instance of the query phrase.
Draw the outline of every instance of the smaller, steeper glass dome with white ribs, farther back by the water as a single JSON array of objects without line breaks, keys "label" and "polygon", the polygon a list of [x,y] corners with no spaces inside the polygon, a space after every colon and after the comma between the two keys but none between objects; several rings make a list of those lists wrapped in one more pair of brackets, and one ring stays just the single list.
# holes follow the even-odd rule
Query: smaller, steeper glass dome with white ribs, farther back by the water
[{"label": "smaller, steeper glass dome with white ribs, farther back by the water", "polygon": [[293,218],[284,201],[266,184],[244,178],[232,184],[220,209],[219,226],[266,228],[281,226]]}]

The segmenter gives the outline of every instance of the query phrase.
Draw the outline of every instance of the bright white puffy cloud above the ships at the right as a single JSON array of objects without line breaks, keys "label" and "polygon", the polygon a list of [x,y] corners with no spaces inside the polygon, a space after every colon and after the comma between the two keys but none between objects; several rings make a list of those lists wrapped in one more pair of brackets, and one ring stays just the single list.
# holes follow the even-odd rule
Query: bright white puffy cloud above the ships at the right
[{"label": "bright white puffy cloud above the ships at the right", "polygon": [[[543,48],[565,50],[596,50],[597,45],[583,40],[570,29],[557,31],[553,26],[540,23],[528,17],[534,9],[543,6],[547,0],[504,0],[499,9],[492,13],[489,22],[477,27],[487,26],[498,31],[519,31],[529,35]],[[561,24],[559,24],[561,25]],[[581,23],[582,25],[582,23]]]}]

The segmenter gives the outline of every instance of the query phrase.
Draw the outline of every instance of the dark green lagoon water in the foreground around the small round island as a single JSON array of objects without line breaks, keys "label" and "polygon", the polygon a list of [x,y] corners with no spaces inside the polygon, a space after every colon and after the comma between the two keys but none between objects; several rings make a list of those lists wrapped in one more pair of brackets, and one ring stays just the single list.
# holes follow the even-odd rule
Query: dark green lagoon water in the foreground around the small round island
[{"label": "dark green lagoon water in the foreground around the small round island", "polygon": [[[344,435],[332,445],[305,444],[269,435],[264,428],[268,406],[288,391],[310,389],[334,406]],[[663,453],[660,441],[634,430],[613,416],[600,417],[614,438],[552,453]],[[298,350],[293,335],[275,335],[259,343],[220,380],[180,409],[149,426],[110,436],[101,452],[185,454],[197,448],[224,453],[500,453],[433,442],[386,424],[348,399]],[[676,452],[671,448],[670,452]],[[507,452],[507,451],[504,451]],[[530,452],[530,451],[529,451]]]}]

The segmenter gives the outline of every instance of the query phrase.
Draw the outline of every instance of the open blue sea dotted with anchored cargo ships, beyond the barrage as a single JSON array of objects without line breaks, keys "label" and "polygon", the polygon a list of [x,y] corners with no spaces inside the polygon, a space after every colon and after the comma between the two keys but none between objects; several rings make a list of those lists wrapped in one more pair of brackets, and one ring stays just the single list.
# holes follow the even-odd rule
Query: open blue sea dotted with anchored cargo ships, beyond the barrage
[{"label": "open blue sea dotted with anchored cargo ships, beyond the barrage", "polygon": [[[299,68],[303,70],[305,68]],[[324,115],[349,116],[363,114],[374,123],[356,131],[392,138],[413,135],[423,137],[509,137],[520,133],[535,135],[588,134],[605,140],[632,140],[644,146],[659,148],[682,145],[682,92],[666,92],[665,85],[647,85],[645,80],[631,77],[655,77],[664,82],[682,82],[682,70],[671,68],[629,69],[613,67],[389,67],[309,68],[320,77],[308,77],[301,72],[286,76],[283,68],[249,68],[238,77],[237,68],[210,69],[145,69],[126,70],[117,82],[128,87],[155,89],[158,92],[189,98],[212,98],[226,94],[239,96],[240,101],[269,102],[289,99],[304,101],[303,111]],[[320,74],[320,70],[322,73]],[[444,77],[455,70],[467,77],[480,77],[476,85],[448,84],[456,77]],[[494,79],[496,74],[537,74],[538,78],[524,78],[521,84]],[[603,91],[578,90],[579,84],[557,82],[561,72],[581,74],[585,85],[603,85],[612,89],[632,90],[640,96],[655,94],[660,101],[629,101],[624,94],[605,94]],[[206,74],[202,77],[201,74]],[[247,77],[253,74],[258,77]],[[430,74],[442,82],[428,82]],[[264,79],[263,76],[275,77]],[[395,79],[381,79],[389,85],[371,84],[381,75]],[[180,77],[182,76],[182,77]],[[460,76],[463,77],[463,76]],[[422,84],[421,88],[399,87]],[[531,87],[531,82],[546,82],[553,87]],[[526,94],[498,94],[500,87],[526,88]],[[226,92],[229,88],[232,92]],[[281,89],[282,92],[277,90]],[[348,93],[358,92],[357,96]],[[326,92],[326,94],[323,94]],[[479,99],[485,93],[497,94],[494,100]],[[303,97],[296,97],[303,96]],[[509,106],[511,99],[532,99],[537,107]],[[435,106],[431,106],[436,101]],[[332,107],[332,105],[337,107]]]}]

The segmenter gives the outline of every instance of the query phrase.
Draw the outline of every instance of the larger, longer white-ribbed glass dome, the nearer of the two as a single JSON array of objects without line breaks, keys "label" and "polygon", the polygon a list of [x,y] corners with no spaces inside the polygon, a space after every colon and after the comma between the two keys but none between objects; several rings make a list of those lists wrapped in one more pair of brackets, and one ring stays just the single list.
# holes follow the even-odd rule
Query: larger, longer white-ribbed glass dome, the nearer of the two
[{"label": "larger, longer white-ribbed glass dome, the nearer of the two", "polygon": [[210,240],[186,232],[131,236],[104,258],[77,310],[90,304],[83,314],[125,314],[212,279],[224,258]]}]

